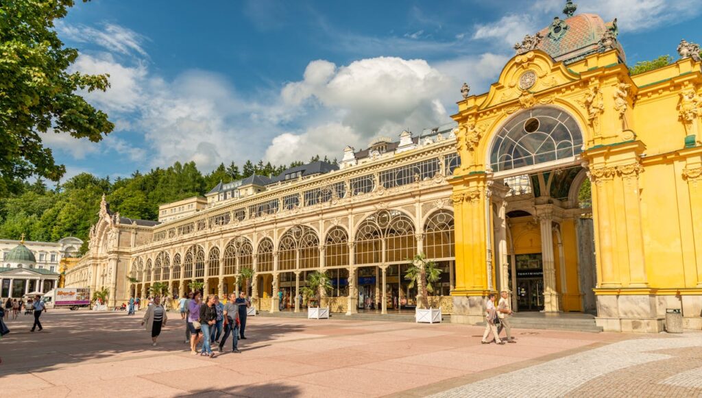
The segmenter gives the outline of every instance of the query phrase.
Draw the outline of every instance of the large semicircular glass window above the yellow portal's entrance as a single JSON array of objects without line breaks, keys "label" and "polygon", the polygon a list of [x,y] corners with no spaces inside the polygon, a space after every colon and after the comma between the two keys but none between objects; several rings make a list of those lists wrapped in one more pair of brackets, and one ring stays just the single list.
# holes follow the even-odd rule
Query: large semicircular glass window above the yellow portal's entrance
[{"label": "large semicircular glass window above the yellow portal's entrance", "polygon": [[583,150],[575,119],[555,107],[516,114],[498,131],[490,151],[492,171],[534,166],[574,157]]}]

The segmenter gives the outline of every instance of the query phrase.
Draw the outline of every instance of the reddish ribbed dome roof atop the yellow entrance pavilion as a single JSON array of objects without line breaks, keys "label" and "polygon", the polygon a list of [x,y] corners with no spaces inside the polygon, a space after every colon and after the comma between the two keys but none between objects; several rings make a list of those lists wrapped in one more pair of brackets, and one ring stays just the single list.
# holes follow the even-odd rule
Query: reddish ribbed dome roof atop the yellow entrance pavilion
[{"label": "reddish ribbed dome roof atop the yellow entrance pavilion", "polygon": [[[565,20],[554,20],[553,25],[541,29],[538,34],[543,39],[536,48],[548,53],[554,60],[568,64],[597,52],[600,39],[607,30],[611,30],[615,35],[618,33],[616,20],[605,23],[600,15],[573,15]],[[615,47],[621,59],[625,61],[624,49],[618,41]]]}]

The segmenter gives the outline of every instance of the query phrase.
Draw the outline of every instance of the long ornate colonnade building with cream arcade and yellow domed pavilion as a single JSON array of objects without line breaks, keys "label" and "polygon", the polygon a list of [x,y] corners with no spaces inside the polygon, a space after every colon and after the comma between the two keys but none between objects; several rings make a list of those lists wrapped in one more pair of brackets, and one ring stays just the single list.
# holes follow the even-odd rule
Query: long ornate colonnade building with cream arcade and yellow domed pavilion
[{"label": "long ornate colonnade building with cream arcade and yellow domed pavilion", "polygon": [[430,305],[453,322],[482,322],[486,296],[508,291],[517,312],[595,314],[604,331],[661,331],[668,309],[702,329],[699,48],[632,76],[616,20],[564,12],[487,93],[464,84],[449,128],[220,184],[165,223],[103,200],[67,286],[110,288],[110,305],[155,282],[222,295],[248,267],[258,310],[298,312],[307,273],[325,270],[333,312],[402,313],[422,253],[444,271]]}]

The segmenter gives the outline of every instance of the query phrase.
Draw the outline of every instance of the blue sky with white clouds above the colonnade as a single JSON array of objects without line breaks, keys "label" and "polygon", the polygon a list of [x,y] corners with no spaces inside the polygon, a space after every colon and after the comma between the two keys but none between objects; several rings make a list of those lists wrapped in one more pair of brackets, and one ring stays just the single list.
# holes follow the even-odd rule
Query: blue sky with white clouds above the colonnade
[{"label": "blue sky with white clouds above the colonnade", "polygon": [[[345,145],[450,121],[463,81],[485,91],[513,44],[565,1],[78,2],[57,25],[74,69],[110,73],[86,98],[115,131],[46,136],[67,177],[197,162],[341,157]],[[699,42],[702,0],[576,1],[618,18],[628,63]]]}]

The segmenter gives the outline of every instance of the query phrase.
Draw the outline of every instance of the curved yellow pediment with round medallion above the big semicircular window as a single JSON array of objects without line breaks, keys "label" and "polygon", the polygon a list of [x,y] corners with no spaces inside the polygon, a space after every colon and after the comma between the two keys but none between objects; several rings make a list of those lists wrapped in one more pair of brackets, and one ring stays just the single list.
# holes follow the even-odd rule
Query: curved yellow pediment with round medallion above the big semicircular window
[{"label": "curved yellow pediment with round medallion above the big semicircular window", "polygon": [[534,50],[516,55],[502,69],[497,81],[483,98],[477,98],[477,110],[522,101],[541,91],[578,80],[562,62],[554,63],[550,55]]}]

